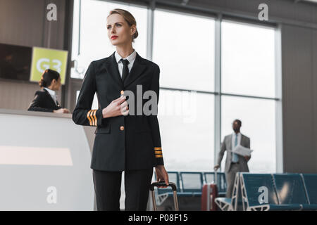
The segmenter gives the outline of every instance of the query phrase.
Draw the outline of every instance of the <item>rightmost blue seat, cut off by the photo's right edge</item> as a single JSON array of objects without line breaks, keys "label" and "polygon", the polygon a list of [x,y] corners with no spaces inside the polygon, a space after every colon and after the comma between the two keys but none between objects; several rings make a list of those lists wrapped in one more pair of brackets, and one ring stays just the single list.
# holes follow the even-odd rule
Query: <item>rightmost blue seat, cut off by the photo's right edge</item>
[{"label": "rightmost blue seat, cut off by the photo's right edge", "polygon": [[303,204],[302,210],[317,210],[317,174],[301,174],[309,204]]}]

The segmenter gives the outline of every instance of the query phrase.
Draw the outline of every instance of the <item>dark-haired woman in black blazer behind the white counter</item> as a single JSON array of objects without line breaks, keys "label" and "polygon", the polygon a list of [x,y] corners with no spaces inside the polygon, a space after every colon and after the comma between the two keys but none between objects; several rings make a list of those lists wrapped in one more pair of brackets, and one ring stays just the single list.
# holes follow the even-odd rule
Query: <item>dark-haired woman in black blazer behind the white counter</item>
[{"label": "dark-haired woman in black blazer behind the white counter", "polygon": [[43,72],[39,86],[42,90],[35,92],[35,98],[30,103],[29,111],[50,113],[69,113],[66,108],[61,108],[57,101],[56,92],[61,87],[61,76],[55,70],[47,69]]}]

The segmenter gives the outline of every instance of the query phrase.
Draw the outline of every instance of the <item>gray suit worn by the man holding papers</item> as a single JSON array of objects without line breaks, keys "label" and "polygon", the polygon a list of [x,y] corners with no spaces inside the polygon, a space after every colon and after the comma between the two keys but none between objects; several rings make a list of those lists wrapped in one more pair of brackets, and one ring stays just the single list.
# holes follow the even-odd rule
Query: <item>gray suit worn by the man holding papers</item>
[{"label": "gray suit worn by the man holding papers", "polygon": [[[231,198],[232,189],[235,182],[235,173],[236,172],[249,172],[249,167],[247,165],[247,160],[242,156],[238,155],[239,163],[232,164],[232,134],[225,136],[223,139],[223,143],[220,148],[220,152],[218,155],[218,165],[221,164],[221,160],[223,160],[223,155],[225,154],[225,150],[227,151],[227,158],[225,159],[225,177],[227,179],[227,193],[226,197]],[[238,143],[239,144],[239,143]],[[250,139],[247,136],[241,134],[241,146],[245,148],[250,148]]]}]

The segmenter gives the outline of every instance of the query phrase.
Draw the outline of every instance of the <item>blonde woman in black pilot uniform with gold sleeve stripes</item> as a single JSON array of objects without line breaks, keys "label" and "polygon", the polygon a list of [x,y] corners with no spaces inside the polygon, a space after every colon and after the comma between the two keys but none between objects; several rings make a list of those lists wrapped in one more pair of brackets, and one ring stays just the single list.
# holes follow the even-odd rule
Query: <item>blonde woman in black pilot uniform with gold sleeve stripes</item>
[{"label": "blonde woman in black pilot uniform with gold sleeve stripes", "polygon": [[[92,175],[97,210],[120,210],[121,174],[125,172],[125,210],[146,210],[153,167],[157,181],[168,184],[164,168],[157,112],[136,113],[137,98],[143,108],[145,91],[154,91],[159,102],[159,65],[144,59],[132,42],[136,21],[116,8],[107,17],[108,38],[116,51],[90,63],[73,112],[75,124],[96,127],[92,150]],[[137,87],[138,86],[138,87]],[[140,87],[142,87],[140,91]],[[140,96],[140,92],[141,95]],[[99,108],[92,110],[97,93]],[[132,93],[128,106],[127,93]],[[153,105],[152,105],[153,107]],[[130,110],[130,111],[129,111]],[[157,110],[157,105],[156,105]]]}]

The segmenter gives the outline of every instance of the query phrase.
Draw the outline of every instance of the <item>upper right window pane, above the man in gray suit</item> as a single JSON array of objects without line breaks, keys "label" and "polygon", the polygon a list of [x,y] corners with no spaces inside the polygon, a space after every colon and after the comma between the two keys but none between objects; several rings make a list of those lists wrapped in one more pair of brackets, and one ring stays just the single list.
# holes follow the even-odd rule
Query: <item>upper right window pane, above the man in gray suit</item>
[{"label": "upper right window pane, above the man in gray suit", "polygon": [[275,30],[224,21],[221,34],[222,91],[275,97]]}]

